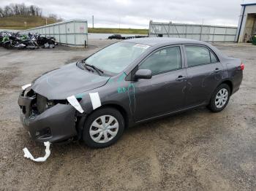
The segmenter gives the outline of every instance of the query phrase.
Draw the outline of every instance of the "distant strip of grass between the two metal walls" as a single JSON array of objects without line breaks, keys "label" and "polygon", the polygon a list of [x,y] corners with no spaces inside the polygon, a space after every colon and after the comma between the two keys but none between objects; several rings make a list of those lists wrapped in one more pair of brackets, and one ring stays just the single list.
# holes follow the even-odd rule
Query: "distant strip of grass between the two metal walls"
[{"label": "distant strip of grass between the two metal walls", "polygon": [[88,28],[89,33],[148,34],[148,29],[135,28]]}]

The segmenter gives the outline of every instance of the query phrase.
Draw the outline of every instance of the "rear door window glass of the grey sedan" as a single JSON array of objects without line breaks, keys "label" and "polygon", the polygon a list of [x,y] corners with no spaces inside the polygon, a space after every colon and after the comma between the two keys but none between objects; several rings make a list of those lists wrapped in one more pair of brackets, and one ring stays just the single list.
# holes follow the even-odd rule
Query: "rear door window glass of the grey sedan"
[{"label": "rear door window glass of the grey sedan", "polygon": [[185,46],[187,52],[187,65],[198,66],[211,63],[210,51],[206,47]]}]

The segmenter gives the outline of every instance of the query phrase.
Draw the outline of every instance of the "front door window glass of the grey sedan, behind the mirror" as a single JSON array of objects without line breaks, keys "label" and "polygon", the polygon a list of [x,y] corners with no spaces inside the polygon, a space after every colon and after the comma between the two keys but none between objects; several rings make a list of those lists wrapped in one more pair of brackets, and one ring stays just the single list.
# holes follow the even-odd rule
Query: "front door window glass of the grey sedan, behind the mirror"
[{"label": "front door window glass of the grey sedan, behind the mirror", "polygon": [[153,75],[181,69],[180,47],[167,47],[154,52],[141,63],[139,69],[150,69]]}]

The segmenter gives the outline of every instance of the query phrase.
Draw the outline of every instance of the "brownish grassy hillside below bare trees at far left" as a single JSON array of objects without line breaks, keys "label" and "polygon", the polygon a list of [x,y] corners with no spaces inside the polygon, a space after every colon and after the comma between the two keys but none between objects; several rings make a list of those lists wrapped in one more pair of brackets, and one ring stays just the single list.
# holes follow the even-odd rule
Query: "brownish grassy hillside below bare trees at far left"
[{"label": "brownish grassy hillside below bare trees at far left", "polygon": [[[26,28],[24,26],[26,22]],[[47,23],[52,24],[58,22],[55,19],[47,18]],[[45,17],[37,16],[12,16],[0,17],[0,28],[23,30],[45,25]]]}]

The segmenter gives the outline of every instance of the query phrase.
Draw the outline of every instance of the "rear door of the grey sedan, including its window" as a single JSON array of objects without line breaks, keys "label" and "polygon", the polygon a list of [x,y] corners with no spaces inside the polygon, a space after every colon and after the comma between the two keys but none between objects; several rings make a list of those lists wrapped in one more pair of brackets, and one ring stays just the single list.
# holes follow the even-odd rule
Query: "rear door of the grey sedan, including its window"
[{"label": "rear door of the grey sedan, including its window", "polygon": [[187,64],[186,106],[196,106],[211,98],[224,68],[208,47],[191,44],[183,47]]}]

